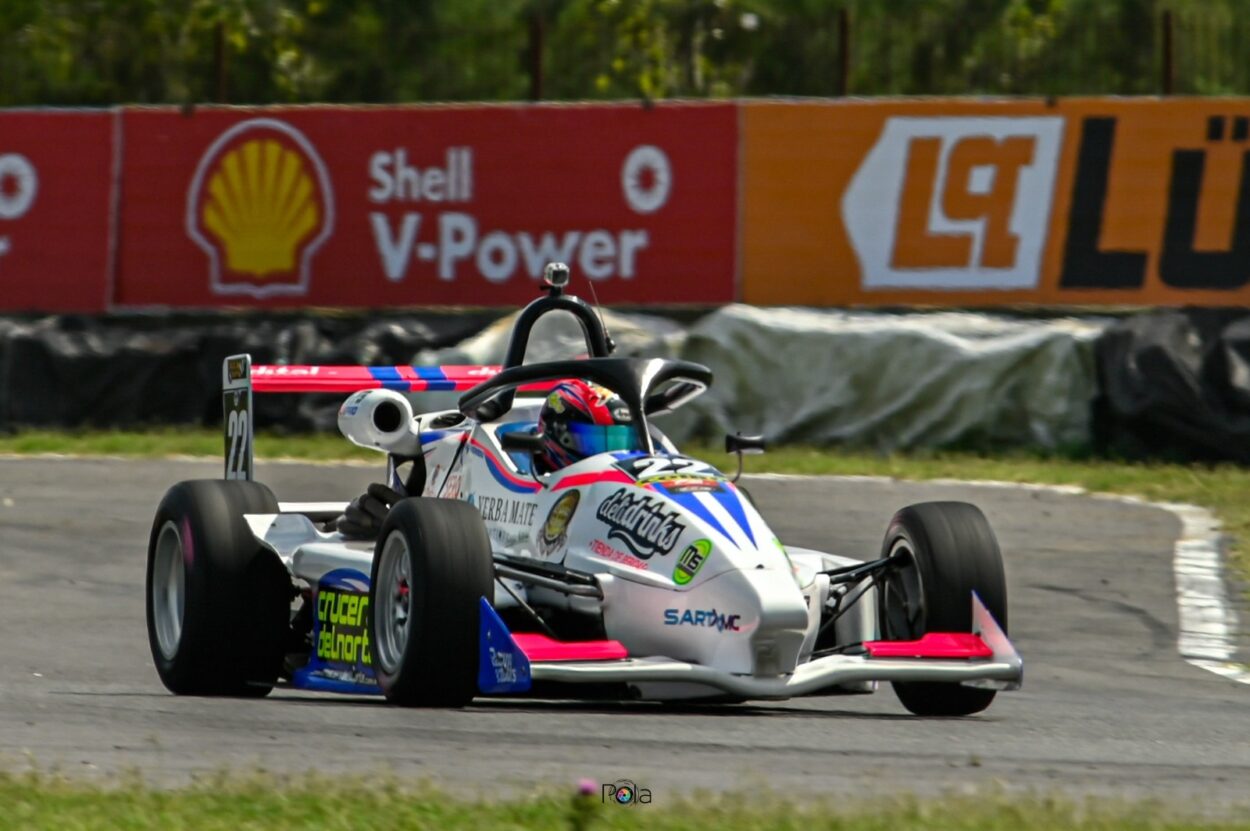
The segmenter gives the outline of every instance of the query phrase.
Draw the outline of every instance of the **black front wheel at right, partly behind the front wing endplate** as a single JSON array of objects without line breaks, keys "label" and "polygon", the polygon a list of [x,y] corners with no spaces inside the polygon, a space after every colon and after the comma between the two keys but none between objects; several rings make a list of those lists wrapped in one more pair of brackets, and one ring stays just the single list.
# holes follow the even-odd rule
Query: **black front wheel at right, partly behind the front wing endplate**
[{"label": "black front wheel at right, partly behind the front wing endplate", "polygon": [[[968,502],[921,502],[894,515],[881,556],[894,556],[879,612],[886,640],[926,632],[972,631],[975,591],[1008,631],[1008,589],[999,541],[981,510]],[[895,681],[894,692],[919,716],[968,716],[994,701],[994,690],[936,681]]]}]

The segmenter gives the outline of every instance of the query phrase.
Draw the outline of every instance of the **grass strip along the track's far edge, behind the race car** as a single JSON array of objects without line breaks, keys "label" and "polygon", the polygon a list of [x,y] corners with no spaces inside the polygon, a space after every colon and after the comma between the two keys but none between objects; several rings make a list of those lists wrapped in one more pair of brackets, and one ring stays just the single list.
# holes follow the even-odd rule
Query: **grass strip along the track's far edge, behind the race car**
[{"label": "grass strip along the track's far edge, behind the race car", "polygon": [[[719,449],[688,447],[691,455],[722,470],[734,459]],[[30,430],[0,435],[0,454],[74,454],[130,457],[222,455],[221,435],[204,429],[158,429],[142,432]],[[379,460],[338,434],[259,435],[260,459]],[[892,476],[896,479],[989,479],[1009,482],[1078,485],[1089,491],[1141,496],[1151,501],[1189,502],[1212,510],[1232,536],[1234,571],[1250,582],[1250,469],[1235,465],[1180,465],[1042,456],[1016,452],[880,454],[815,447],[780,447],[746,460],[748,472]]]}]

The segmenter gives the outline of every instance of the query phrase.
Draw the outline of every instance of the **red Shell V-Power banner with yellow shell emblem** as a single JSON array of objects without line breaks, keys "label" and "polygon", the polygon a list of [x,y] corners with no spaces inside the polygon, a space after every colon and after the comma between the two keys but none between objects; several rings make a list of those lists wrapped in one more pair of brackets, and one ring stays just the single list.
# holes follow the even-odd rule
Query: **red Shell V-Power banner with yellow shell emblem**
[{"label": "red Shell V-Power banner with yellow shell emblem", "polygon": [[735,295],[732,104],[122,112],[119,306]]}]

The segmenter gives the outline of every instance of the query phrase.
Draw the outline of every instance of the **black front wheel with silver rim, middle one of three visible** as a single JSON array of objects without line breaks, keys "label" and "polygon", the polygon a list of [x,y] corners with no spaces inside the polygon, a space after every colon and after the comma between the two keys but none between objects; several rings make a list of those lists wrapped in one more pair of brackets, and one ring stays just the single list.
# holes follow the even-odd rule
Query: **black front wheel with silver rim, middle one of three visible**
[{"label": "black front wheel with silver rim, middle one of three visible", "polygon": [[478,692],[479,604],[495,565],[481,514],[446,499],[405,499],[374,550],[370,636],[388,701],[461,707]]}]

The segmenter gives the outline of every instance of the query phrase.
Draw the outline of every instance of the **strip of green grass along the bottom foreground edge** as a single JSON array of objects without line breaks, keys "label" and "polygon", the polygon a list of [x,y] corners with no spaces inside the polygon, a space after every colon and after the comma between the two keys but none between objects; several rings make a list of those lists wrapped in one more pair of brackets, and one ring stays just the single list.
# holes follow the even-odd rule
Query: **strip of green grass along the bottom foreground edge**
[{"label": "strip of green grass along the bottom foreground edge", "polygon": [[[604,805],[598,794],[466,800],[391,776],[381,781],[264,775],[218,777],[191,787],[152,789],[139,781],[88,785],[48,775],[0,774],[0,826],[14,829],[542,829],[679,831],[1162,831],[1250,829],[1245,819],[1195,817],[1159,804],[1082,802],[985,794],[931,800],[891,799],[790,805],[782,795],[686,795],[656,790],[650,805]],[[1229,817],[1236,815],[1230,814]],[[1244,815],[1242,815],[1244,817]]]}]

